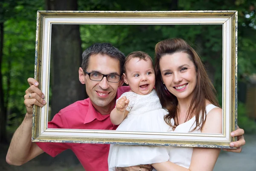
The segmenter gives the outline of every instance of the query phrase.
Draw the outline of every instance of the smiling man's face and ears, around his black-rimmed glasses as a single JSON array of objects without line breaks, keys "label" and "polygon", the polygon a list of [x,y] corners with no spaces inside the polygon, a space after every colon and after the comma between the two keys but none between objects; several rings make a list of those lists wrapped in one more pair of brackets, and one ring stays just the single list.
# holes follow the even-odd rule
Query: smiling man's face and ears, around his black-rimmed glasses
[{"label": "smiling man's face and ears, around his black-rimmed glasses", "polygon": [[[87,72],[96,72],[101,74],[116,74],[120,75],[120,67],[118,59],[111,58],[108,55],[91,55]],[[118,83],[108,82],[104,77],[102,81],[92,81],[89,75],[85,74],[81,67],[79,68],[79,80],[86,85],[86,93],[89,96],[94,106],[108,107],[115,103],[116,91],[123,82]],[[113,104],[111,103],[113,102]]]}]

